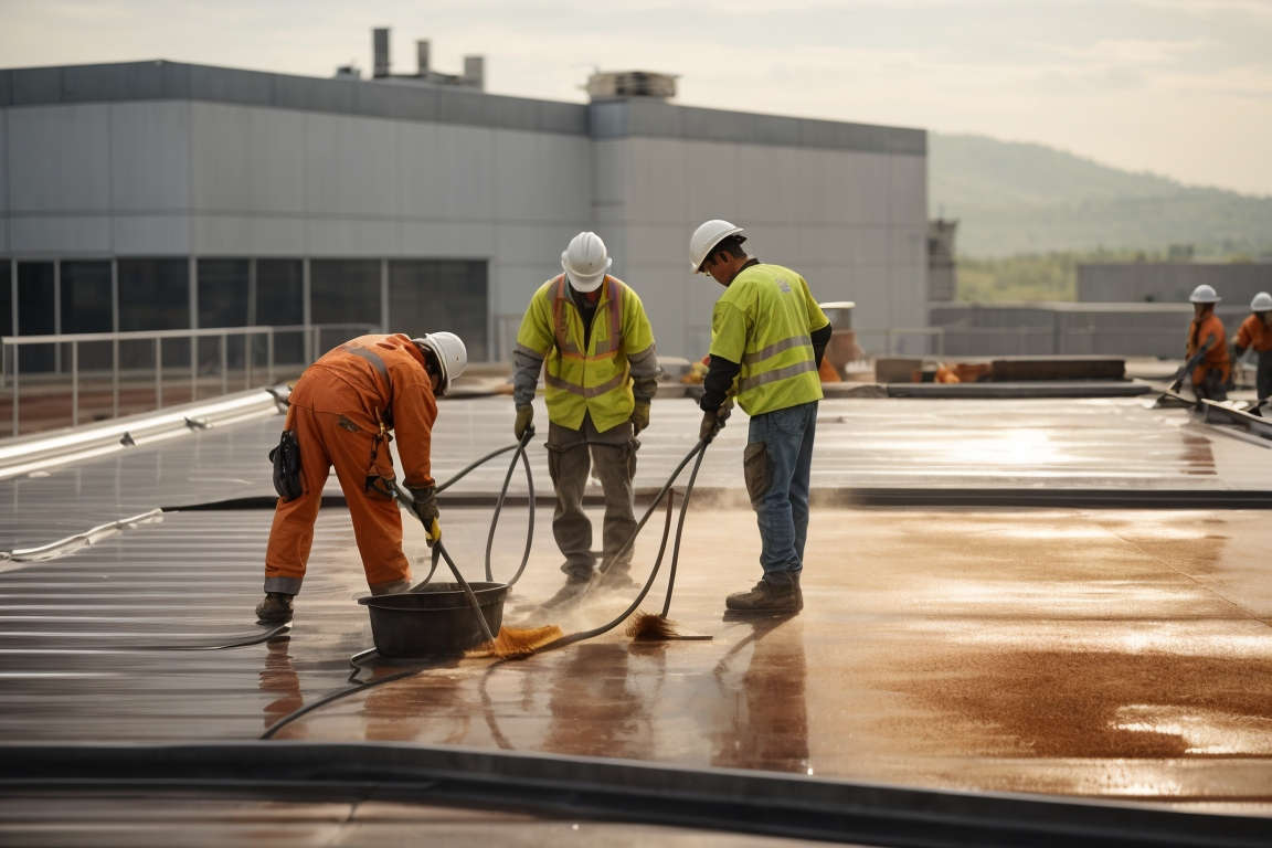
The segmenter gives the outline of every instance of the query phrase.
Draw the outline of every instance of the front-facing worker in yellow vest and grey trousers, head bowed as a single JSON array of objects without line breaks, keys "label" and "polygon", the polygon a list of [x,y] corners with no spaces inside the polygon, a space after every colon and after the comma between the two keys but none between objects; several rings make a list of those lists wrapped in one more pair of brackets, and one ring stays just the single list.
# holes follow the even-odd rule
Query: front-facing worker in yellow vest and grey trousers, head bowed
[{"label": "front-facing worker in yellow vest and grey trousers, head bowed", "polygon": [[636,435],[649,426],[658,356],[645,306],[607,273],[611,264],[599,235],[574,236],[561,254],[562,273],[530,299],[513,352],[518,439],[533,432],[532,400],[547,362],[548,470],[557,496],[552,534],[567,578],[556,600],[581,592],[595,573],[591,523],[583,511],[593,464],[605,497],[600,571],[607,587],[632,584],[632,551],[625,544],[636,529]]}]

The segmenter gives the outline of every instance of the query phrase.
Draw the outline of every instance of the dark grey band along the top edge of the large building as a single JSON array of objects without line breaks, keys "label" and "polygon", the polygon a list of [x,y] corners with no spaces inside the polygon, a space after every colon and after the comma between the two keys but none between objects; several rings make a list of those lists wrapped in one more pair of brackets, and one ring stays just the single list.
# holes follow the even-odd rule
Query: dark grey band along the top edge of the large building
[{"label": "dark grey band along the top edge of the large building", "polygon": [[130,100],[233,103],[598,140],[658,137],[920,156],[927,153],[925,130],[729,112],[642,98],[566,103],[165,60],[0,69],[0,108]]}]

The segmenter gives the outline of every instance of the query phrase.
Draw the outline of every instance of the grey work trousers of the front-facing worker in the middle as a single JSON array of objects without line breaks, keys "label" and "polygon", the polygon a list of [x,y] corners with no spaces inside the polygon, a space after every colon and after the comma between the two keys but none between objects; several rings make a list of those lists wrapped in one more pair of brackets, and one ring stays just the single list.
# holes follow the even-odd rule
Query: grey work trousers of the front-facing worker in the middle
[{"label": "grey work trousers of the front-facing worker in the middle", "polygon": [[636,475],[637,448],[640,442],[632,436],[630,421],[604,432],[598,432],[586,414],[580,430],[548,425],[548,470],[557,495],[552,535],[565,554],[561,566],[565,573],[576,578],[591,576],[591,521],[583,511],[583,492],[593,463],[605,493],[603,567],[614,573],[631,568],[631,547],[622,553],[619,549],[636,530],[632,478]]}]

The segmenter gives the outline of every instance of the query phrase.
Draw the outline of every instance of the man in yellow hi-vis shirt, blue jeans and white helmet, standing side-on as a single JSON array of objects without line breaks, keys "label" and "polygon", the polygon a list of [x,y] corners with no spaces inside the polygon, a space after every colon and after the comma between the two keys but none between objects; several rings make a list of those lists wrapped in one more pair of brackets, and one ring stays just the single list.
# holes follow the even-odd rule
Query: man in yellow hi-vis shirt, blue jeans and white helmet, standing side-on
[{"label": "man in yellow hi-vis shirt, blue jeans and white helmet, standing side-on", "polygon": [[831,322],[795,271],[747,256],[740,226],[706,221],[689,239],[692,268],[726,291],[711,314],[711,361],[702,380],[701,439],[724,426],[729,406],[750,416],[743,475],[759,524],[763,578],[729,595],[738,612],[796,613],[804,606],[800,572],[808,537],[809,474],[818,367]]}]

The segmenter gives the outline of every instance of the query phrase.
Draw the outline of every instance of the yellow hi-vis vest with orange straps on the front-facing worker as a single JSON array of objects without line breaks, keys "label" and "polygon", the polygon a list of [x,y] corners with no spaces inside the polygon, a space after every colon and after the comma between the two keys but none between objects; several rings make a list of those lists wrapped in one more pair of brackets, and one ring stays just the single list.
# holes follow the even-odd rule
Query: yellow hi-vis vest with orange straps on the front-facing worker
[{"label": "yellow hi-vis vest with orange straps on the front-facing worker", "polygon": [[548,420],[570,430],[583,416],[604,432],[631,417],[635,400],[628,356],[637,359],[654,345],[654,331],[640,297],[623,281],[605,276],[583,345],[583,317],[570,297],[565,275],[548,280],[530,299],[516,333],[516,347],[546,360],[543,385]]}]

